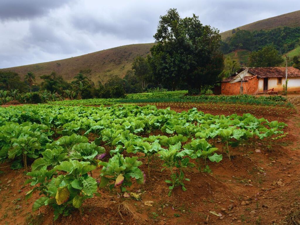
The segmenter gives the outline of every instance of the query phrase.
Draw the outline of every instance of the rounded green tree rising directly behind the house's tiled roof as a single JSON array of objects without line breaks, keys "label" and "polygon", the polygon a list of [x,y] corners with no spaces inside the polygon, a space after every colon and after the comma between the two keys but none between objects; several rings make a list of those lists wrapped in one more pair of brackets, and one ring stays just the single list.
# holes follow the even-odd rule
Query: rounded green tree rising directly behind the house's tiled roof
[{"label": "rounded green tree rising directly behind the house's tiled roof", "polygon": [[275,47],[268,45],[259,51],[251,52],[248,64],[250,67],[271,67],[278,66],[282,62],[283,58]]}]

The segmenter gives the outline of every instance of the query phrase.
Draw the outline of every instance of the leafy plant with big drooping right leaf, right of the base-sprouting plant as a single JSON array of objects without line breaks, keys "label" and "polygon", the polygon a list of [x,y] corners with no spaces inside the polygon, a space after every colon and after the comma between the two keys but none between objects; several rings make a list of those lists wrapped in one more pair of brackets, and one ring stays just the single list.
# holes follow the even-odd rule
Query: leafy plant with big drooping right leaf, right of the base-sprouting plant
[{"label": "leafy plant with big drooping right leaf, right of the base-sprouting plant", "polygon": [[[206,164],[207,158],[211,162],[216,162],[216,163],[220,162],[223,158],[222,155],[218,155],[217,153],[215,153],[215,151],[217,151],[218,149],[213,148],[211,144],[209,144],[204,138],[192,139],[192,141],[184,145],[183,148],[185,150],[191,150],[192,153],[189,155],[190,158],[196,159],[198,163],[200,158],[204,160],[205,167],[202,170],[203,172],[211,171],[208,165]],[[198,170],[201,171],[201,165],[199,165]]]}]

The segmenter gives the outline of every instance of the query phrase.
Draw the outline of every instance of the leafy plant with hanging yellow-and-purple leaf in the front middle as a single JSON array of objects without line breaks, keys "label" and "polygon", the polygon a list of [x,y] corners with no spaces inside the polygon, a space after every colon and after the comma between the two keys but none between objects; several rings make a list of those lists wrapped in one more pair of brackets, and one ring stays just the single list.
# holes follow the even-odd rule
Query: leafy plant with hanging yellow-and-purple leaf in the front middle
[{"label": "leafy plant with hanging yellow-and-purple leaf in the front middle", "polygon": [[[108,184],[110,190],[113,188],[120,188],[120,196],[122,197],[130,187],[134,178],[138,184],[145,182],[144,173],[138,168],[142,165],[141,161],[137,160],[138,157],[126,157],[117,153],[108,162],[99,162],[99,166],[103,166],[101,170],[101,181],[99,187],[106,187]],[[111,183],[113,181],[113,183]]]}]

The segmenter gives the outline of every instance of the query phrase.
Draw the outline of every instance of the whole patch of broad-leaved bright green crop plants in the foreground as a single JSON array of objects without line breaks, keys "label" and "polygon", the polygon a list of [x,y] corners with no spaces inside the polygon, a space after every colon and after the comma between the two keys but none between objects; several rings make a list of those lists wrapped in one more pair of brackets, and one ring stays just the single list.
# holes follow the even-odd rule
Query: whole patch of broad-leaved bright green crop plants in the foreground
[{"label": "whole patch of broad-leaved bright green crop plants in the foreground", "polygon": [[[26,170],[27,160],[34,160],[27,173],[32,178],[26,182],[33,189],[26,198],[38,191],[42,196],[35,201],[33,210],[51,205],[55,218],[68,215],[73,208],[80,208],[85,199],[99,195],[98,186],[119,188],[122,196],[133,181],[143,184],[147,176],[139,168],[142,162],[137,156],[124,157],[124,152],[145,157],[148,178],[149,165],[157,155],[170,173],[166,183],[170,184],[171,195],[175,187],[186,190],[184,182],[189,179],[184,177],[184,168],[196,166],[209,173],[206,160],[222,160],[215,140],[224,143],[230,159],[229,145],[241,145],[244,149],[251,138],[267,138],[271,148],[272,137],[282,137],[286,126],[249,113],[214,116],[196,108],[176,113],[149,105],[27,105],[0,108],[0,113],[0,160],[13,161],[12,169],[23,164]],[[163,135],[146,136],[157,130]],[[95,137],[92,142],[88,139],[91,133]],[[100,184],[92,177],[97,166],[102,167]]]}]

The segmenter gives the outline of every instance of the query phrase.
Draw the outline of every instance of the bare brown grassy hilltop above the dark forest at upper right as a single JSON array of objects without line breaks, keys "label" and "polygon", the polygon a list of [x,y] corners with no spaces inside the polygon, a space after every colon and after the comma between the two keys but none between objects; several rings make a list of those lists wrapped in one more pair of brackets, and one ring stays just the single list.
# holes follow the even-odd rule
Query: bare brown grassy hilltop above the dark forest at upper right
[{"label": "bare brown grassy hilltop above the dark forest at upper right", "polygon": [[[240,30],[271,30],[277,27],[298,27],[300,26],[300,10],[282,14],[280,16],[274,16],[268,19],[262,19],[253,23],[246,24],[238,27]],[[225,40],[232,36],[232,30],[220,33],[222,39]]]}]

